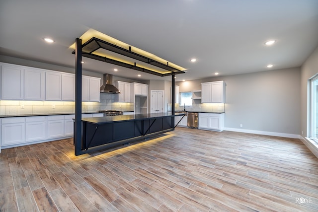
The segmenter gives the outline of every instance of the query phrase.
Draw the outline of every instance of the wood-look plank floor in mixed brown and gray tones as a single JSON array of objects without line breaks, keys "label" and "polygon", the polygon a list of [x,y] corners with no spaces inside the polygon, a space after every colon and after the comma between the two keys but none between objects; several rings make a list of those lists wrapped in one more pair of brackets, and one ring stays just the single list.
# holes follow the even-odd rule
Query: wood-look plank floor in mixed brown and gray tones
[{"label": "wood-look plank floor in mixed brown and gray tones", "polygon": [[72,139],[8,148],[0,211],[317,212],[318,159],[298,139],[186,128],[80,156]]}]

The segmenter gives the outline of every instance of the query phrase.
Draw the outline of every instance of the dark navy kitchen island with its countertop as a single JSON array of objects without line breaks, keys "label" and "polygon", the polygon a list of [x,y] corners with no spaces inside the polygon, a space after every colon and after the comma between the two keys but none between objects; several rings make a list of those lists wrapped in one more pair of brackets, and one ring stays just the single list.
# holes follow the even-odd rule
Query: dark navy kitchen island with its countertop
[{"label": "dark navy kitchen island with its countertop", "polygon": [[172,131],[175,116],[184,114],[168,112],[82,118],[81,151],[75,153],[84,154]]}]

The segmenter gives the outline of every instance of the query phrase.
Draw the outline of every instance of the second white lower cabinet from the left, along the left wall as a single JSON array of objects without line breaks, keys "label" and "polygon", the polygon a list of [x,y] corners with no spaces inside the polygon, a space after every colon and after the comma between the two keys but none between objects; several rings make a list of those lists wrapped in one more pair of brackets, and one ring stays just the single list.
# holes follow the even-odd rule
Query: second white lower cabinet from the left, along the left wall
[{"label": "second white lower cabinet from the left, along the left wall", "polygon": [[25,141],[40,141],[45,139],[45,116],[25,118]]}]

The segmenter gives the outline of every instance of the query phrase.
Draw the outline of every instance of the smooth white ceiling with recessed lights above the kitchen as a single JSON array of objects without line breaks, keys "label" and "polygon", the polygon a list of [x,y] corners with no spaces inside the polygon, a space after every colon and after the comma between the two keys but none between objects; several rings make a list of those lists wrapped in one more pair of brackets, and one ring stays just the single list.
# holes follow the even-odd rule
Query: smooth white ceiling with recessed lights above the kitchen
[{"label": "smooth white ceiling with recessed lights above the kitchen", "polygon": [[[69,47],[91,28],[186,68],[176,81],[284,69],[318,46],[318,0],[0,1],[1,55],[75,67]],[[265,46],[270,39],[276,44]],[[171,79],[83,61],[87,71]]]}]

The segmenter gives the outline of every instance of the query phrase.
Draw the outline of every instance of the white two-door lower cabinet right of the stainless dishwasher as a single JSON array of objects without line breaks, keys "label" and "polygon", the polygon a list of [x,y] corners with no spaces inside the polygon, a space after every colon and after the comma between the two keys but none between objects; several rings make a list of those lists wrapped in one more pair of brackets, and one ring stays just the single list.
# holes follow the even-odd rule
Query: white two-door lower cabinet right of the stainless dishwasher
[{"label": "white two-door lower cabinet right of the stainless dishwasher", "polygon": [[199,129],[224,130],[224,113],[199,113]]}]

